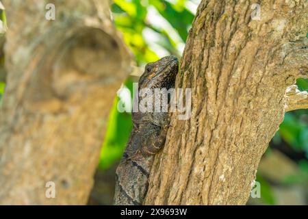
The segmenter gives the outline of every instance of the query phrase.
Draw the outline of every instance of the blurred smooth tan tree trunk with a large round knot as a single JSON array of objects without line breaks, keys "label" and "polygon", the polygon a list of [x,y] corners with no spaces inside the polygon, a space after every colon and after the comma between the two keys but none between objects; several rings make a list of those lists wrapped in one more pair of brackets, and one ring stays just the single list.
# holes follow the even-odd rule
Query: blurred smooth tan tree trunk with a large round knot
[{"label": "blurred smooth tan tree trunk with a large round knot", "polygon": [[[47,21],[47,3],[55,21]],[[131,55],[109,1],[6,0],[0,204],[85,204]],[[47,181],[55,198],[47,198]]]}]

